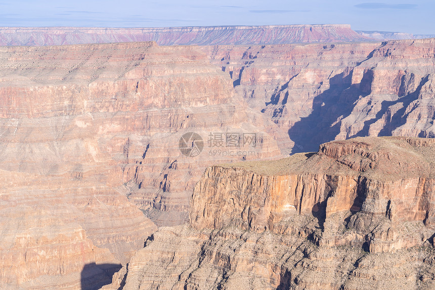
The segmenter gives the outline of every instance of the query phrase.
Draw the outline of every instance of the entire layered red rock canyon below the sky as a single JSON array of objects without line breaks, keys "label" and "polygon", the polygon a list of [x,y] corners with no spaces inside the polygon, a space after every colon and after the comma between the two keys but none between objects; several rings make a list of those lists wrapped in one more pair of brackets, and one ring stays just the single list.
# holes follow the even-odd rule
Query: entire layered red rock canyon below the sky
[{"label": "entire layered red rock canyon below the sky", "polygon": [[0,287],[435,288],[435,38],[393,36],[0,28]]}]

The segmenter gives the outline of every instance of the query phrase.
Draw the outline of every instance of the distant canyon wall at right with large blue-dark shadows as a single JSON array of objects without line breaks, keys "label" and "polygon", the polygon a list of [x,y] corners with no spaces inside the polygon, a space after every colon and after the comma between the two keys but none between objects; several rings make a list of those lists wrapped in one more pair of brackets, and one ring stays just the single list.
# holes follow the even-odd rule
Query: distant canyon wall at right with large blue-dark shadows
[{"label": "distant canyon wall at right with large blue-dark shadows", "polygon": [[200,49],[293,153],[357,136],[435,136],[435,38]]}]

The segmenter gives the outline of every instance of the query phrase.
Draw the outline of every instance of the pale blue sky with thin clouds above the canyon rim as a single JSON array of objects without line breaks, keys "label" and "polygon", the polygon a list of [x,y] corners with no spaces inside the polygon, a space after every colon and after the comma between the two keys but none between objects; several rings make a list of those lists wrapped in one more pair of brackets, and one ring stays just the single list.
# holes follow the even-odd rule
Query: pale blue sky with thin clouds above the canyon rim
[{"label": "pale blue sky with thin clouds above the canyon rim", "polygon": [[165,27],[351,24],[355,30],[435,34],[435,2],[423,0],[0,0],[0,26]]}]

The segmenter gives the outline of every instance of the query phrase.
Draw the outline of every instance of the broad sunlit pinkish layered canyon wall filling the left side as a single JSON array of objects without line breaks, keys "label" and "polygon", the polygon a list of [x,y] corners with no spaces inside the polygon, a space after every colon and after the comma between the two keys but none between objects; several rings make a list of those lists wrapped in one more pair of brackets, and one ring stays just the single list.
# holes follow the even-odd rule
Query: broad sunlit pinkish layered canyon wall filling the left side
[{"label": "broad sunlit pinkish layered canyon wall filling the left side", "polygon": [[[0,287],[110,282],[157,229],[145,215],[187,219],[207,165],[282,156],[257,115],[193,47],[0,48]],[[196,157],[179,150],[188,132]],[[211,155],[209,132],[256,138]]]}]

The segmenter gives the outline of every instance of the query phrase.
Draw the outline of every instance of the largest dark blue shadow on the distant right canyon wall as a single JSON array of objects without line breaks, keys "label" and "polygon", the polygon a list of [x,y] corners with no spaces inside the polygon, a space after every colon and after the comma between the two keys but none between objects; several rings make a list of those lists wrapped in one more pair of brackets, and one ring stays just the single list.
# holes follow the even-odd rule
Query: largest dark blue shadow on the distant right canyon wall
[{"label": "largest dark blue shadow on the distant right canyon wall", "polygon": [[360,96],[370,94],[372,81],[370,71],[357,85],[352,85],[352,73],[331,77],[329,89],[314,98],[311,114],[301,118],[288,131],[290,139],[295,142],[292,153],[317,151],[320,144],[334,140],[340,133],[340,118],[351,114]]}]

